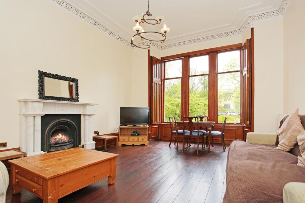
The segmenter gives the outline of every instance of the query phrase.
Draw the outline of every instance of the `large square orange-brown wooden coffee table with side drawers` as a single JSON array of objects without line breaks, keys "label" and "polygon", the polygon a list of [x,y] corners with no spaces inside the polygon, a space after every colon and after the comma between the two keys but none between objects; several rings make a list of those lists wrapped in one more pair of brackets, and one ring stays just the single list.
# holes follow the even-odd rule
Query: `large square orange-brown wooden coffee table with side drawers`
[{"label": "large square orange-brown wooden coffee table with side drawers", "polygon": [[72,148],[10,160],[13,194],[21,187],[43,199],[59,198],[108,177],[114,184],[117,154]]}]

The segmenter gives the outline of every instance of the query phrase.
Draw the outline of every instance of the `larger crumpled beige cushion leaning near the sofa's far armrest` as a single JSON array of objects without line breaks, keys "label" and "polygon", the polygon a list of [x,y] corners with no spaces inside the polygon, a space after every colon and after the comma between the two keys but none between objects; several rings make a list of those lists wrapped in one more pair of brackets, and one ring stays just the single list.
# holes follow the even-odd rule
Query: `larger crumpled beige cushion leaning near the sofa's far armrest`
[{"label": "larger crumpled beige cushion leaning near the sofa's far armrest", "polygon": [[279,144],[275,149],[288,152],[296,145],[296,137],[304,131],[298,113],[299,109],[296,109],[295,112],[286,118],[281,128],[276,132],[278,134]]}]

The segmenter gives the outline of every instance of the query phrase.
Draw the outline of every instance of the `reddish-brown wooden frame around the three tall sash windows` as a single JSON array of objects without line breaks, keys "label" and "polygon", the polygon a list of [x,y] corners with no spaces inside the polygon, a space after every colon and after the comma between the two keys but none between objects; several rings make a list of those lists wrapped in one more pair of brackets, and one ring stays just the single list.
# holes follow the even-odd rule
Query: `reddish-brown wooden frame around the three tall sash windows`
[{"label": "reddish-brown wooden frame around the three tall sash windows", "polygon": [[[181,76],[181,119],[183,116],[189,115],[189,79],[190,77],[194,76],[202,76],[202,75],[208,75],[208,116],[211,121],[215,121],[215,124],[218,123],[218,71],[217,71],[217,54],[221,52],[227,52],[227,51],[235,51],[239,50],[241,54],[241,47],[242,43],[239,44],[232,44],[228,46],[223,47],[216,47],[216,48],[210,48],[210,49],[204,49],[199,51],[192,51],[187,52],[183,54],[175,54],[171,56],[161,57],[161,60],[163,61],[163,67],[164,67],[164,79],[163,79],[163,100],[162,100],[162,122],[168,123],[167,121],[164,121],[165,116],[165,108],[164,108],[164,82],[165,82],[165,62],[167,61],[173,61],[177,59],[182,59],[182,76]],[[189,59],[193,57],[199,57],[199,56],[209,56],[209,73],[208,74],[200,74],[200,75],[190,75],[190,68],[189,68]],[[240,56],[241,60],[241,56]],[[240,61],[240,69],[238,71],[231,71],[231,72],[240,72],[240,75],[242,76],[241,71],[241,61]],[[229,72],[221,72],[220,74],[229,73]],[[180,77],[178,77],[180,78]],[[176,78],[168,78],[168,79],[176,79]],[[240,88],[241,91],[241,88]],[[240,110],[242,111],[242,97],[240,98]],[[241,114],[242,116],[242,114]],[[242,119],[240,119],[241,121]],[[239,123],[228,123],[229,125],[241,125],[241,122]]]}]

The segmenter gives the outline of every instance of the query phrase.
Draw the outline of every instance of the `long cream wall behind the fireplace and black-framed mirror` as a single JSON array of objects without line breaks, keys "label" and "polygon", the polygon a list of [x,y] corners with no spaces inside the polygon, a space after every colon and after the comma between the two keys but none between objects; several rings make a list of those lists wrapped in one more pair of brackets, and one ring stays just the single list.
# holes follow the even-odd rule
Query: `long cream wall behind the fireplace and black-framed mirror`
[{"label": "long cream wall behind the fireplace and black-framed mirror", "polygon": [[0,142],[19,147],[17,99],[38,99],[38,70],[78,78],[80,102],[99,104],[93,130],[117,129],[131,101],[130,48],[49,1],[0,1],[0,19]]}]

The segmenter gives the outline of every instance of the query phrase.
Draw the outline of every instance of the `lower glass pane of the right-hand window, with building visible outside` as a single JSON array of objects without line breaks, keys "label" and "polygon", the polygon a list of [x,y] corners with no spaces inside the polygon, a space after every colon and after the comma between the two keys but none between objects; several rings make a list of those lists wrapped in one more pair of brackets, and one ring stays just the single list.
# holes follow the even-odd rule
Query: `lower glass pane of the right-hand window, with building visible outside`
[{"label": "lower glass pane of the right-hand window, with building visible outside", "polygon": [[240,72],[218,74],[218,122],[240,123]]}]

